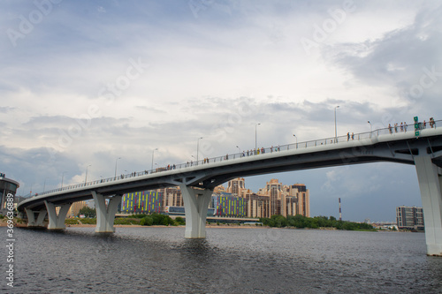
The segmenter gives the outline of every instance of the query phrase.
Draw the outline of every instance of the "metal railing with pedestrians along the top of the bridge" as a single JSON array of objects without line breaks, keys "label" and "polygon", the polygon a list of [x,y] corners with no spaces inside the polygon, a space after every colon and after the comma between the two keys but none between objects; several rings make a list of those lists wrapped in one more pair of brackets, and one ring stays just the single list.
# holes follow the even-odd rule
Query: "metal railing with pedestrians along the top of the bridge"
[{"label": "metal railing with pedestrians along the top of the bridge", "polygon": [[[422,123],[418,123],[418,124],[419,124],[419,130],[436,128],[437,125],[440,126],[442,124],[442,120],[425,122],[425,123],[422,122]],[[124,178],[140,177],[140,176],[154,174],[154,173],[162,172],[162,171],[166,171],[166,170],[179,170],[179,169],[183,169],[183,168],[187,168],[187,167],[191,167],[191,166],[210,164],[213,162],[224,162],[224,161],[239,159],[242,157],[263,155],[263,154],[269,154],[269,153],[273,153],[273,152],[283,152],[283,151],[293,150],[293,149],[301,149],[301,148],[308,148],[308,147],[317,147],[317,146],[324,146],[324,145],[339,144],[339,143],[352,141],[352,140],[361,141],[364,139],[371,139],[375,136],[380,136],[380,135],[385,135],[385,134],[394,134],[394,133],[400,133],[400,132],[415,132],[415,124],[405,124],[405,125],[395,124],[395,125],[392,125],[392,126],[389,126],[389,127],[383,128],[383,129],[377,129],[377,130],[374,130],[371,132],[347,133],[347,135],[338,136],[338,137],[330,137],[330,138],[325,138],[325,139],[314,139],[314,140],[303,141],[303,142],[299,142],[299,143],[296,142],[296,143],[286,144],[286,145],[281,145],[281,146],[278,145],[278,146],[272,146],[272,147],[260,147],[260,148],[257,148],[256,150],[255,149],[250,149],[247,151],[244,150],[243,152],[234,153],[234,154],[230,154],[230,155],[226,154],[224,156],[203,158],[202,160],[198,160],[198,162],[191,161],[191,162],[185,162],[185,163],[179,163],[179,164],[171,164],[171,165],[168,165],[168,166],[165,166],[162,168],[156,168],[155,170],[135,171],[133,173],[126,174],[126,175],[120,175],[117,177],[107,177],[107,178],[102,178],[99,180],[90,181],[87,183],[76,184],[76,185],[67,185],[65,187],[61,187],[58,189],[53,189],[53,190],[45,191],[42,193],[35,193],[34,196],[49,194],[52,192],[68,191],[68,190],[72,190],[72,189],[86,187],[89,185],[110,183],[110,182],[115,182],[115,181],[118,181],[118,180],[124,179]],[[34,197],[34,196],[31,196],[31,197]]]}]

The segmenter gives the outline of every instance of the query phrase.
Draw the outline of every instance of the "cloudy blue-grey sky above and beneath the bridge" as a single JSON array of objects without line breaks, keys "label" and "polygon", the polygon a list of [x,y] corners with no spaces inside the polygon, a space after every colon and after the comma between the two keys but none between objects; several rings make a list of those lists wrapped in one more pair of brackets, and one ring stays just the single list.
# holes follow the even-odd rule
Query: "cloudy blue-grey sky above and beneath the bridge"
[{"label": "cloudy blue-grey sky above and beneath the bridge", "polygon": [[[248,150],[255,132],[261,147],[333,137],[336,106],[338,135],[442,119],[439,1],[0,5],[0,171],[19,195],[188,162],[198,143],[200,158]],[[311,215],[338,217],[339,197],[351,221],[422,205],[409,165],[246,187],[271,178],[307,185]]]}]

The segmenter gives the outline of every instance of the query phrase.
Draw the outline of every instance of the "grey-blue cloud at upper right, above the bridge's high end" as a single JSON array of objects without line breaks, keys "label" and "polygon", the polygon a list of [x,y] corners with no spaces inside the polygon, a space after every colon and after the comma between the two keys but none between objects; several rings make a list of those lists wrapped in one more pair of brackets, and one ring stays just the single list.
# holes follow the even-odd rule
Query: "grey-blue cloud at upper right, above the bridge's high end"
[{"label": "grey-blue cloud at upper right, above the bridge's high end", "polygon": [[390,101],[403,109],[400,114],[408,115],[411,108],[428,113],[425,105],[441,105],[442,60],[436,45],[442,42],[441,12],[440,4],[425,5],[412,24],[377,40],[329,45],[324,58],[359,83],[391,87]]}]

